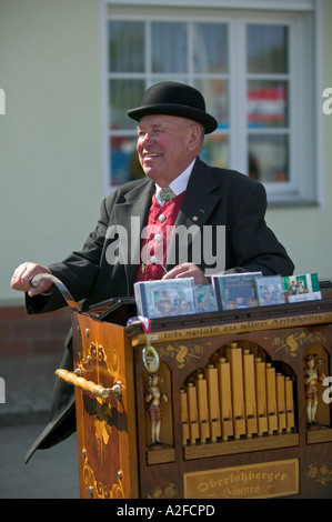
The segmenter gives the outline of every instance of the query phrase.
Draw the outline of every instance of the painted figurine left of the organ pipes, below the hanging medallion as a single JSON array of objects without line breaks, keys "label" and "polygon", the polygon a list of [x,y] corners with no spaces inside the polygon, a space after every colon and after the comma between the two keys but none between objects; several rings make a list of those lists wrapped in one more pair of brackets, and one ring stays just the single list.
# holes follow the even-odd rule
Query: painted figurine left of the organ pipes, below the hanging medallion
[{"label": "painted figurine left of the organ pipes, below the hanging medallion", "polygon": [[148,412],[151,420],[151,445],[162,445],[160,442],[160,428],[162,416],[161,403],[167,403],[168,398],[163,393],[161,387],[161,378],[158,373],[149,375],[149,388],[145,390],[145,401],[148,403]]}]

